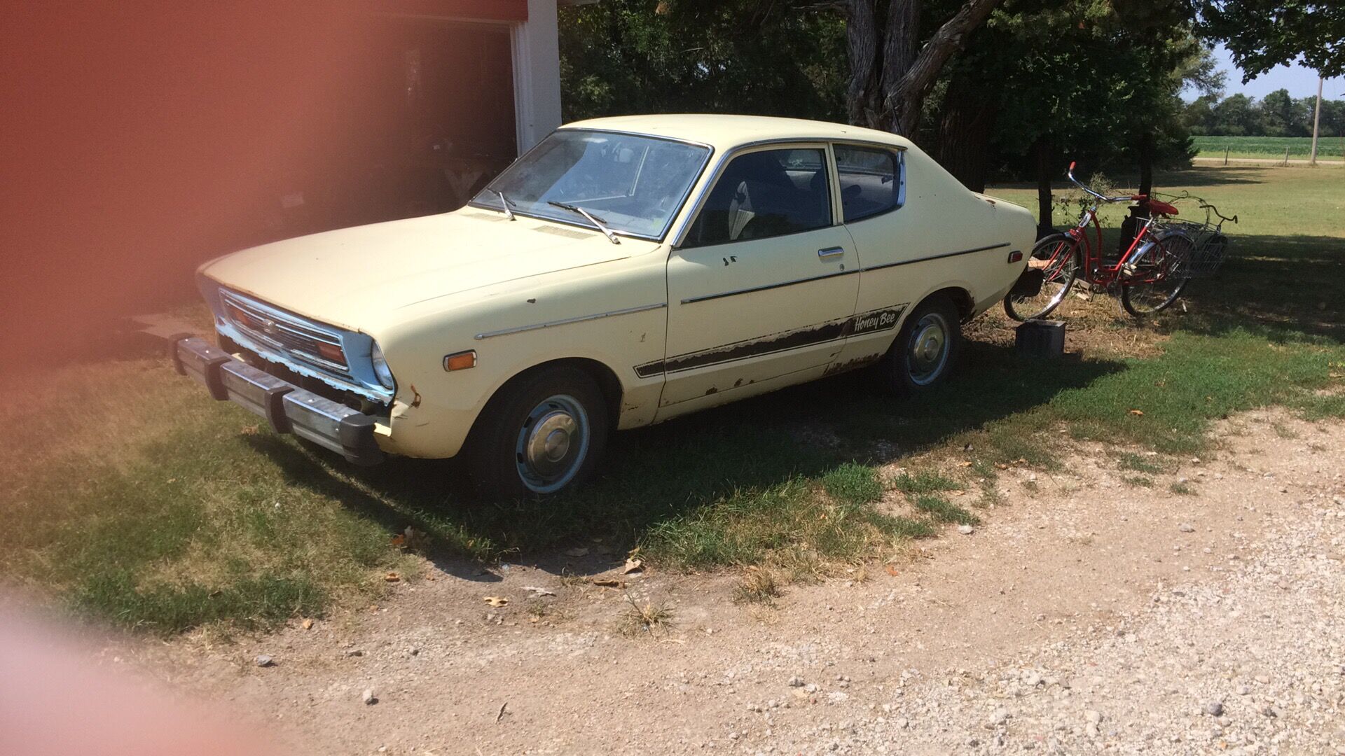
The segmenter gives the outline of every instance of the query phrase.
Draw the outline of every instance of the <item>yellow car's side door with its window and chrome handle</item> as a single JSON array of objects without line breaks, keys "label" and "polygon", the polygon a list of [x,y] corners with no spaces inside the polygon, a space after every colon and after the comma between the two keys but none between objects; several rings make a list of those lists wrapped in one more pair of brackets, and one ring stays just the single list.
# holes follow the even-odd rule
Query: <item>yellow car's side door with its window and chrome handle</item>
[{"label": "yellow car's side door with its window and chrome handle", "polygon": [[721,394],[701,402],[717,404],[724,393],[826,370],[843,343],[859,278],[834,207],[826,144],[729,157],[668,256],[667,356],[638,369],[666,374],[660,408]]}]

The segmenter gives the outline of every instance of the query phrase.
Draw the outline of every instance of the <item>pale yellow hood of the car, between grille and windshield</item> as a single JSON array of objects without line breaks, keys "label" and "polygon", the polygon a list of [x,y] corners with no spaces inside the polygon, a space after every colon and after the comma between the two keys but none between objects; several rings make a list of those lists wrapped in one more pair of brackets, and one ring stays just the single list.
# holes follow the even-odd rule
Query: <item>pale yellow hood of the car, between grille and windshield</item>
[{"label": "pale yellow hood of the car, between grille and windshield", "polygon": [[428,300],[650,252],[582,227],[463,209],[266,243],[202,273],[300,315],[360,330]]}]

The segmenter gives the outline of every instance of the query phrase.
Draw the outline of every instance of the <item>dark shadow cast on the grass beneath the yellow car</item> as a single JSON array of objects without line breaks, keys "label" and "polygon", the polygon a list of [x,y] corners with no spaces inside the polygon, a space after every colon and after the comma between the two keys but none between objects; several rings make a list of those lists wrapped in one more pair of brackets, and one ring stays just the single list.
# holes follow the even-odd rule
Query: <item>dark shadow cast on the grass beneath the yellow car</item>
[{"label": "dark shadow cast on the grass beneath the yellow car", "polygon": [[448,573],[499,580],[503,561],[584,576],[620,566],[646,534],[697,507],[845,463],[900,460],[1122,369],[1077,355],[1030,361],[968,340],[954,378],[919,398],[886,395],[855,371],[616,433],[596,480],[546,500],[473,500],[456,460],[356,468],[292,440],[253,443],[293,486],[390,533],[428,533],[428,556]]}]

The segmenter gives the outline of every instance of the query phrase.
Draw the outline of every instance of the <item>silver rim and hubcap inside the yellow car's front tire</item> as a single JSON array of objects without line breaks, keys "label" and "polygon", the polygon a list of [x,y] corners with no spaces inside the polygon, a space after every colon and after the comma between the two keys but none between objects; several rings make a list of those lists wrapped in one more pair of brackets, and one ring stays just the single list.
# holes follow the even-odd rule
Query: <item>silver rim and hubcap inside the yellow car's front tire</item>
[{"label": "silver rim and hubcap inside the yellow car's front tire", "polygon": [[569,395],[543,400],[527,413],[518,433],[515,460],[523,486],[537,494],[560,490],[584,464],[588,444],[584,406]]}]

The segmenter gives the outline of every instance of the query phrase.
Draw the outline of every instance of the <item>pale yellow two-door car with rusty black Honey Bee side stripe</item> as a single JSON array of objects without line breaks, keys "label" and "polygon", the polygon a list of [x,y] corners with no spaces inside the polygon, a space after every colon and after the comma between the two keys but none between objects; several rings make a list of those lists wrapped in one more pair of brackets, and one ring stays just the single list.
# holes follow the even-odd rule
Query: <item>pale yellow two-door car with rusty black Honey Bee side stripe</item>
[{"label": "pale yellow two-door car with rusty black Honey Bee side stripe", "polygon": [[359,464],[467,456],[491,496],[593,472],[613,429],[842,370],[944,379],[1036,225],[911,141],[749,116],[565,125],[471,203],[203,265],[179,370]]}]

